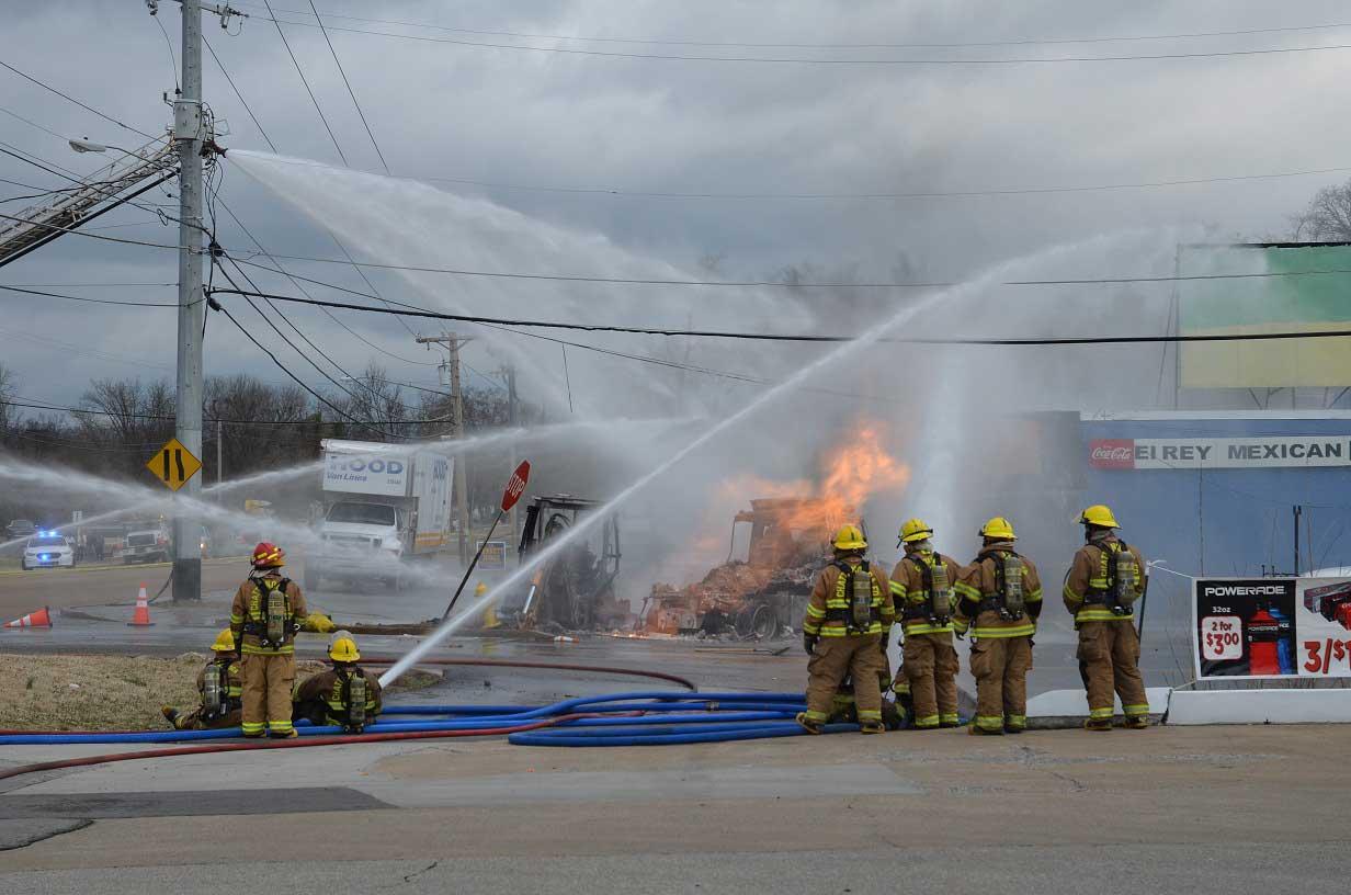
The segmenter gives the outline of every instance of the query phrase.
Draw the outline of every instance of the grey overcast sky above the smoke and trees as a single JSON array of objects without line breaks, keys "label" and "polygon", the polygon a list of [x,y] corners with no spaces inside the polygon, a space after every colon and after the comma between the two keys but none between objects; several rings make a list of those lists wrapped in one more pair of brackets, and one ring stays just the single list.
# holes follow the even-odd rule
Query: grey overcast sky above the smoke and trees
[{"label": "grey overcast sky above the smoke and trees", "polygon": [[[1202,224],[1216,238],[1279,237],[1288,230],[1288,215],[1317,188],[1351,173],[929,199],[626,195],[1017,191],[1247,177],[1348,165],[1340,150],[1351,137],[1351,119],[1340,111],[1351,99],[1351,80],[1344,74],[1351,49],[1270,51],[1351,45],[1351,27],[1294,30],[1347,19],[1344,4],[1332,1],[316,3],[326,23],[335,28],[330,32],[332,45],[394,174],[511,184],[517,188],[444,181],[435,185],[538,218],[571,239],[609,242],[654,265],[700,276],[762,277],[786,265],[809,264],[817,276],[832,279],[947,280],[1047,246],[1119,230],[1165,231],[1177,224]],[[262,3],[236,5],[254,16],[242,28],[235,20],[226,34],[207,18],[204,31],[272,143],[286,155],[340,165],[338,149],[277,27],[266,20]],[[328,46],[313,27],[308,3],[277,0],[273,7],[278,18],[295,23],[282,26],[286,39],[349,166],[381,172]],[[161,95],[172,92],[174,73],[165,37],[139,0],[8,3],[3,15],[0,61],[135,128],[151,134],[163,128],[169,108]],[[180,14],[174,3],[161,0],[158,22],[168,28],[177,55]],[[1271,28],[1292,30],[1120,39]],[[1061,42],[1070,39],[1084,42]],[[975,46],[1024,41],[1047,43]],[[1233,51],[1254,53],[947,64]],[[943,64],[757,64],[635,55]],[[209,54],[204,70],[207,100],[230,127],[219,142],[266,151],[267,142]],[[0,70],[0,108],[61,135],[0,114],[4,143],[80,173],[92,170],[100,160],[73,154],[65,137],[88,135],[127,147],[143,142],[7,70]],[[9,157],[0,157],[0,178],[42,189],[62,185],[57,177]],[[11,197],[28,192],[0,183],[0,211],[23,208],[26,200]],[[147,193],[146,199],[151,195],[172,203],[163,191]],[[338,257],[323,230],[238,168],[226,166],[220,197],[272,251]],[[154,222],[151,212],[126,207],[91,227],[108,227],[92,230],[103,235],[153,242],[172,243],[177,235],[176,227]],[[227,247],[250,247],[230,220],[220,222],[219,235]],[[349,247],[361,260],[382,260],[361,246]],[[596,253],[573,262],[566,256],[520,251],[520,257],[512,257],[511,251],[499,251],[485,260],[465,257],[461,249],[443,245],[434,251],[422,245],[422,254],[413,257],[409,250],[400,257],[438,266],[592,276],[611,273],[597,266],[597,258],[613,257]],[[716,260],[712,274],[709,260]],[[1093,264],[1108,269],[1082,273],[1129,274],[1138,270],[1135,261],[1094,254]],[[172,251],[72,235],[0,270],[0,284],[170,284],[177,276],[176,264]],[[330,265],[323,274],[365,288],[350,269]],[[280,280],[263,283],[293,292]],[[399,283],[388,279],[381,285],[399,289]],[[482,310],[492,312],[493,293],[481,291],[481,283],[455,279],[447,289],[459,296],[458,307],[474,307],[481,296]],[[174,296],[172,287],[62,285],[54,291],[165,301]],[[550,296],[549,284],[542,284],[539,316],[554,316]],[[172,374],[172,310],[15,293],[5,293],[3,300],[8,312],[0,316],[0,362],[18,372],[24,396],[69,403],[78,399],[91,377]],[[345,320],[401,357],[423,364],[434,360],[392,319]],[[299,312],[297,322],[349,369],[359,369],[373,357],[386,364],[390,376],[435,384],[431,366],[377,354],[323,316]],[[280,342],[265,341],[284,356]],[[489,352],[485,345],[469,350],[476,370],[496,366]],[[299,364],[295,368],[317,384],[312,369]],[[216,319],[208,334],[207,369],[280,379],[270,361]],[[470,381],[477,381],[474,374]]]}]

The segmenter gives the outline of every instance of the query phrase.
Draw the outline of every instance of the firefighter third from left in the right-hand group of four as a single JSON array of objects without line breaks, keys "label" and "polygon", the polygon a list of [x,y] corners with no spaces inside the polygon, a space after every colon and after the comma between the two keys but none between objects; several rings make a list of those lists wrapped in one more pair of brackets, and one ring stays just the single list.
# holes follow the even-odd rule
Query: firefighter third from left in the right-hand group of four
[{"label": "firefighter third from left in the right-hand group of four", "polygon": [[975,722],[969,733],[998,735],[1027,729],[1027,672],[1042,614],[1042,580],[1013,550],[1013,525],[994,516],[979,531],[981,552],[962,572],[954,630],[971,634]]}]

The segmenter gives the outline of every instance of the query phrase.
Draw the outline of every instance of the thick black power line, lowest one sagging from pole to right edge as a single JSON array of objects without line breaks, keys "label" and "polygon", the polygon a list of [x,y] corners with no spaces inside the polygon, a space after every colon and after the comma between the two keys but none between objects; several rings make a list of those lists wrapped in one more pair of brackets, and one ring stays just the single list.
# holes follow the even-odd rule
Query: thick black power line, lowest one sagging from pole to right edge
[{"label": "thick black power line, lowest one sagging from pole to right edge", "polygon": [[[245,293],[238,289],[212,289],[211,296],[216,295],[240,295],[249,297],[250,295],[258,293]],[[262,296],[259,296],[262,297]],[[346,308],[353,311],[366,311],[369,314],[403,314],[405,316],[420,316],[431,318],[438,320],[455,320],[462,323],[493,323],[497,326],[532,326],[540,329],[551,330],[580,330],[584,333],[626,333],[634,335],[666,335],[666,337],[698,337],[698,338],[723,338],[723,339],[746,339],[746,341],[761,341],[761,342],[852,342],[857,335],[792,335],[792,334],[777,334],[777,333],[746,333],[735,330],[676,330],[676,329],[659,329],[659,327],[639,327],[639,326],[613,326],[601,323],[562,323],[554,320],[521,320],[521,319],[505,319],[505,318],[492,318],[492,316],[478,316],[469,314],[442,314],[438,311],[427,311],[422,308],[413,308],[413,306],[404,306],[411,310],[405,311],[392,311],[389,308],[377,308],[369,304],[350,304],[346,301],[322,301],[317,299],[297,299],[295,296],[282,295],[266,295],[266,297],[277,301],[295,301],[299,304],[316,304],[332,308]],[[213,297],[208,296],[211,307],[222,310]],[[403,304],[403,303],[400,303]],[[881,338],[880,342],[894,342],[901,345],[1008,345],[1008,346],[1032,346],[1032,345],[1136,345],[1136,343],[1159,343],[1159,342],[1263,342],[1271,339],[1297,339],[1297,338],[1340,338],[1351,335],[1351,330],[1321,330],[1321,331],[1281,331],[1281,333],[1225,333],[1225,334],[1205,334],[1205,335],[1084,335],[1084,337],[1065,337],[1065,338]]]}]

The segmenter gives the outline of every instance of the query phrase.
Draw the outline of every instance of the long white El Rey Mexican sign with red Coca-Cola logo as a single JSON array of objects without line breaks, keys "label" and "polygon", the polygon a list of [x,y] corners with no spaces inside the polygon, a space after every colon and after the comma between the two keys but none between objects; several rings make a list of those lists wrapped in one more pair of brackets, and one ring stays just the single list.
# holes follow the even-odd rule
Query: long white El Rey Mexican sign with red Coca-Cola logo
[{"label": "long white El Rey Mexican sign with red Coca-Cola logo", "polygon": [[1351,466],[1351,437],[1094,438],[1094,469],[1274,469]]}]

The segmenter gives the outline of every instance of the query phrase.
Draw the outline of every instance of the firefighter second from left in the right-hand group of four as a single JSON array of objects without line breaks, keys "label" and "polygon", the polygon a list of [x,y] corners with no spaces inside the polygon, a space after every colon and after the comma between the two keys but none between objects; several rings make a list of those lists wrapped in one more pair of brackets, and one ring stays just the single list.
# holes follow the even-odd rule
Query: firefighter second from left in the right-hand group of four
[{"label": "firefighter second from left in the right-hand group of four", "polygon": [[[909,695],[917,730],[957,727],[957,672],[952,648],[952,584],[962,565],[934,550],[934,529],[923,519],[901,526],[905,556],[892,571],[892,598],[905,641],[896,675],[897,700]],[[904,688],[904,684],[909,684]]]}]

